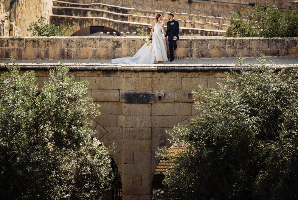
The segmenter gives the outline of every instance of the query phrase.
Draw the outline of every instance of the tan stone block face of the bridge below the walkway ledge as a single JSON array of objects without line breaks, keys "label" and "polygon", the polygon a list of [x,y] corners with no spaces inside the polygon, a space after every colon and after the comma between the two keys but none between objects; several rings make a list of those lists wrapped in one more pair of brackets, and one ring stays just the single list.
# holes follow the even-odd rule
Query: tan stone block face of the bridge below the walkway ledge
[{"label": "tan stone block face of the bridge below the walkway ledge", "polygon": [[[21,73],[35,70],[39,89],[51,65],[19,65]],[[192,90],[198,85],[217,87],[223,71],[202,67],[125,67],[119,65],[69,66],[75,81],[89,82],[88,95],[102,115],[89,116],[94,137],[105,146],[117,146],[114,160],[122,181],[123,199],[152,199],[152,180],[159,163],[158,146],[170,147],[166,129],[187,124],[193,109]],[[213,69],[213,71],[212,71]],[[0,73],[5,70],[0,64]],[[161,98],[159,98],[159,96]]]}]

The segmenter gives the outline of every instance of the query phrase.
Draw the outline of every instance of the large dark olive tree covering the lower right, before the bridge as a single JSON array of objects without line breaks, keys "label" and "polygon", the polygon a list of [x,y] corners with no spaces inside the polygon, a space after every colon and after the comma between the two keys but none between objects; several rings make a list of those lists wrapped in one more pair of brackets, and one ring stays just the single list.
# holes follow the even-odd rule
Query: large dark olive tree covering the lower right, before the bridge
[{"label": "large dark olive tree covering the lower right, before the bridge", "polygon": [[170,199],[298,198],[298,70],[229,72],[218,89],[194,91],[198,116],[175,126],[181,150],[164,185]]}]

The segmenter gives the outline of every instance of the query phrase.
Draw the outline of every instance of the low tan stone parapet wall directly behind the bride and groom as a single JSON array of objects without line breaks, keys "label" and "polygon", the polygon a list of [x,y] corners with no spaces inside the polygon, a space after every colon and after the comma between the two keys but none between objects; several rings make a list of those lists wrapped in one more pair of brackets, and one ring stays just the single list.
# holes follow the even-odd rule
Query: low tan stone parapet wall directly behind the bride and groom
[{"label": "low tan stone parapet wall directly behind the bride and groom", "polygon": [[[145,37],[0,37],[0,59],[109,60],[133,56]],[[168,43],[167,43],[168,45]],[[168,47],[167,47],[168,48]],[[169,52],[169,50],[168,50]],[[297,57],[298,37],[181,37],[177,59],[218,57]]]}]

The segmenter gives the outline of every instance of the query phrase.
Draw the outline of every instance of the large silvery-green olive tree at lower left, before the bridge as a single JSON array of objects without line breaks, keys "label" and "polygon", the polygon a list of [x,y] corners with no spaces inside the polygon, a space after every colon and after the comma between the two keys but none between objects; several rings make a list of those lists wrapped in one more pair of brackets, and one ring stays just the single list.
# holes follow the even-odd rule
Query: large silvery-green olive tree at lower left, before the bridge
[{"label": "large silvery-green olive tree at lower left, before the bridge", "polygon": [[98,199],[111,182],[110,155],[98,146],[88,115],[87,82],[68,68],[50,71],[37,93],[34,71],[6,64],[0,77],[1,199]]}]

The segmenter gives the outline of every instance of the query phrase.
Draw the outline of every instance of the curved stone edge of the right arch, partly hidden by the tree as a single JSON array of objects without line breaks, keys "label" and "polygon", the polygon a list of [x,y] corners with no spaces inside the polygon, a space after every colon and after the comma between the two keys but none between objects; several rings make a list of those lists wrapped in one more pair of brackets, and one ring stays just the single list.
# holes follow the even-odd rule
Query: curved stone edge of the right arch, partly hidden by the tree
[{"label": "curved stone edge of the right arch, partly hidden by the tree", "polygon": [[[195,118],[196,116],[198,115],[193,115],[193,116],[190,116],[189,118],[179,122],[180,125],[187,125],[190,123],[190,120]],[[173,131],[173,128],[170,129],[170,132]],[[151,173],[154,174],[156,168],[157,168],[157,165],[159,164],[159,161],[160,159],[158,157],[156,157],[155,153],[157,151],[157,149],[159,147],[164,147],[166,146],[167,148],[170,148],[173,144],[170,143],[169,141],[170,139],[170,135],[168,135],[167,133],[164,133],[164,135],[159,139],[159,141],[156,143],[156,145],[153,146],[153,148],[151,149],[151,160],[152,160],[152,167],[151,168]]]}]

